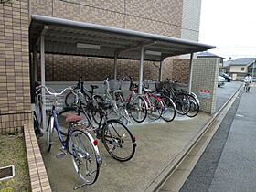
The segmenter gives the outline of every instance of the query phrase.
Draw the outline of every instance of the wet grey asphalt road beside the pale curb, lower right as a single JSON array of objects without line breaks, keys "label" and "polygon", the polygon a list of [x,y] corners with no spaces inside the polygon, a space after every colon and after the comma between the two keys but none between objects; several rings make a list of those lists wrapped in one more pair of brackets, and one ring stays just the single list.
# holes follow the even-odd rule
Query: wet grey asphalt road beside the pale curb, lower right
[{"label": "wet grey asphalt road beside the pale curb, lower right", "polygon": [[240,93],[180,191],[256,191],[255,96]]}]

